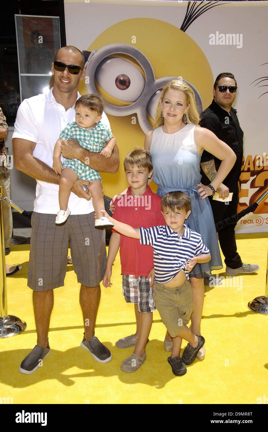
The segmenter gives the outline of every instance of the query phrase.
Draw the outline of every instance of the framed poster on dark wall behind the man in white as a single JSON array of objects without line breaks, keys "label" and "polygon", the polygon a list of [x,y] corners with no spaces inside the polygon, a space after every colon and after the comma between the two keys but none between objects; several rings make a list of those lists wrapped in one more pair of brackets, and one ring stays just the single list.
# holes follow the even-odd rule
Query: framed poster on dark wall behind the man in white
[{"label": "framed poster on dark wall behind the man in white", "polygon": [[21,102],[49,90],[51,64],[60,49],[58,16],[15,15]]}]

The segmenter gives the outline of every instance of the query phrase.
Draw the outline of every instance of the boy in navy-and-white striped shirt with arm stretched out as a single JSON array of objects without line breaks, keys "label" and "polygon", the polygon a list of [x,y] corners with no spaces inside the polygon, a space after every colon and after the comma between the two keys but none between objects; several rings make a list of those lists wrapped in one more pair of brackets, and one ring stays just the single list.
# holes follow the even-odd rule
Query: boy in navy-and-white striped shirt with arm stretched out
[{"label": "boy in navy-and-white striped shirt with arm stretched out", "polygon": [[[186,226],[191,213],[190,198],[180,191],[169,192],[161,200],[161,213],[166,226],[132,228],[104,215],[123,235],[139,238],[141,245],[151,245],[154,251],[154,300],[161,319],[173,340],[171,356],[167,359],[174,375],[184,375],[205,343],[186,324],[192,314],[192,289],[189,273],[196,263],[211,260],[201,235]],[[188,344],[180,357],[182,339]]]}]

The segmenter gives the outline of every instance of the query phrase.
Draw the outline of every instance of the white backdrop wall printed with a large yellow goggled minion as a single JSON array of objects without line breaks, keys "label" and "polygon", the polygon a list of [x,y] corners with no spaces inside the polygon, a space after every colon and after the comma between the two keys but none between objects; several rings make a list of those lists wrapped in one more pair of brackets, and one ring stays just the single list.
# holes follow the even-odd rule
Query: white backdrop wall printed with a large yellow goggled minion
[{"label": "white backdrop wall printed with a large yellow goggled minion", "polygon": [[[238,211],[268,187],[268,9],[263,2],[245,3],[65,3],[67,44],[86,51],[88,59],[79,91],[104,97],[120,162],[134,146],[143,146],[161,87],[170,79],[180,77],[192,86],[202,111],[213,98],[215,77],[234,74],[233,106],[244,131],[245,155]],[[103,175],[109,196],[127,185],[122,166],[117,175]],[[256,212],[241,219],[236,232],[267,232],[268,203]]]}]

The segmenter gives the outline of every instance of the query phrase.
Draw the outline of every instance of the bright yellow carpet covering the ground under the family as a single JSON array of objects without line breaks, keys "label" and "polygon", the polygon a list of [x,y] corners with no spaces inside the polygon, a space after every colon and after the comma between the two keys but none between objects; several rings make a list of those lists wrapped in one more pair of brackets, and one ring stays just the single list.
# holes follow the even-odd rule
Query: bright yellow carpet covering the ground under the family
[{"label": "bright yellow carpet covering the ground under the family", "polygon": [[[29,245],[12,247],[7,264],[23,264],[7,278],[9,314],[27,322],[19,336],[1,339],[0,397],[13,403],[257,403],[268,395],[268,317],[247,308],[254,297],[265,294],[268,233],[237,235],[243,262],[259,264],[257,274],[224,280],[207,288],[202,320],[206,339],[204,361],[195,360],[186,375],[175,377],[164,351],[165,328],[154,313],[147,360],[135,373],[120,370],[132,348],[117,349],[116,340],[135,332],[135,314],[122,296],[119,255],[110,289],[101,288],[96,336],[113,354],[101,364],[80,346],[83,337],[79,284],[68,266],[65,287],[55,290],[50,321],[50,355],[32,375],[18,371],[20,362],[36,344],[32,290],[27,287]],[[224,269],[225,270],[225,267]],[[226,276],[220,270],[220,276]],[[241,289],[242,282],[242,289]],[[183,343],[183,349],[186,343]],[[182,353],[182,352],[181,352]]]}]

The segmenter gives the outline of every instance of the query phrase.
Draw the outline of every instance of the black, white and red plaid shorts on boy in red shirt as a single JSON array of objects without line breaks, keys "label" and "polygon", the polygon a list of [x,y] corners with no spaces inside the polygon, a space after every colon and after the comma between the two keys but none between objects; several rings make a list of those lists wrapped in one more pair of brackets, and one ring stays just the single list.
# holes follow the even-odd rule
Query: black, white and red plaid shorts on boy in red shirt
[{"label": "black, white and red plaid shorts on boy in red shirt", "polygon": [[154,290],[153,287],[150,288],[150,283],[151,278],[146,280],[146,276],[123,274],[123,296],[127,303],[138,305],[142,314],[155,311]]}]

